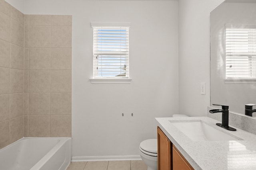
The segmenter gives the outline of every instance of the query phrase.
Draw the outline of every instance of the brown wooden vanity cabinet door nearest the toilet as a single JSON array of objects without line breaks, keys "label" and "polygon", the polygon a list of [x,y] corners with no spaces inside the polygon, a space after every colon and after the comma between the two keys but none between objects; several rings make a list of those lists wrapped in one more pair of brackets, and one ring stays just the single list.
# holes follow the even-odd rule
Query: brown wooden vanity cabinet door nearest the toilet
[{"label": "brown wooden vanity cabinet door nearest the toilet", "polygon": [[157,153],[158,170],[171,170],[172,143],[159,127],[157,127]]}]

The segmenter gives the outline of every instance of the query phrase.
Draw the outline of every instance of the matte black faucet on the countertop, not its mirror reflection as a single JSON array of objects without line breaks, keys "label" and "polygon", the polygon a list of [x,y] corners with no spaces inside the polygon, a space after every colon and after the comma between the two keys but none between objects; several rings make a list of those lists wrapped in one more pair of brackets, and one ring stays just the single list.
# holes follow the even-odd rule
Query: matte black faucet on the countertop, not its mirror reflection
[{"label": "matte black faucet on the countertop, not its mirror reflection", "polygon": [[229,131],[236,131],[236,129],[228,126],[228,105],[212,104],[214,106],[221,106],[222,109],[212,109],[209,110],[210,113],[222,113],[222,123],[216,123],[216,125],[227,129]]}]

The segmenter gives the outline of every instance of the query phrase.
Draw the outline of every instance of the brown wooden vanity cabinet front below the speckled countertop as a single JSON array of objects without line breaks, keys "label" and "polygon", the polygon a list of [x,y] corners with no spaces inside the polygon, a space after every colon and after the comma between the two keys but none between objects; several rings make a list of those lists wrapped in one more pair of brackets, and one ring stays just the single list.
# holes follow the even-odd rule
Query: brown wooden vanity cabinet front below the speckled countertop
[{"label": "brown wooden vanity cabinet front below the speckled countertop", "polygon": [[194,170],[179,150],[157,127],[158,170]]}]

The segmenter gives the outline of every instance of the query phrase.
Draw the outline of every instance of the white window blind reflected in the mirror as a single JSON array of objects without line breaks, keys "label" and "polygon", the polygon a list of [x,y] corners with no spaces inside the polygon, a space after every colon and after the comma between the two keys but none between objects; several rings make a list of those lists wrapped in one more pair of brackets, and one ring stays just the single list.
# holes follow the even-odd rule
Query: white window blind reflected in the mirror
[{"label": "white window blind reflected in the mirror", "polygon": [[256,78],[256,28],[226,28],[226,78]]}]

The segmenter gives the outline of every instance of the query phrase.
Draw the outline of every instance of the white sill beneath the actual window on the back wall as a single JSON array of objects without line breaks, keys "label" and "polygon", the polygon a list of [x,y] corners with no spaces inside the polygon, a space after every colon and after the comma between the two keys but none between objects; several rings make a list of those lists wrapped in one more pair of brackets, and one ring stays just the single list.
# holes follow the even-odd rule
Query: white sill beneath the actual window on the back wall
[{"label": "white sill beneath the actual window on the back wall", "polygon": [[131,78],[90,78],[91,84],[131,84]]}]

